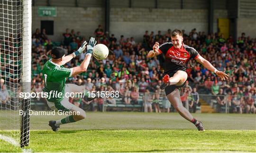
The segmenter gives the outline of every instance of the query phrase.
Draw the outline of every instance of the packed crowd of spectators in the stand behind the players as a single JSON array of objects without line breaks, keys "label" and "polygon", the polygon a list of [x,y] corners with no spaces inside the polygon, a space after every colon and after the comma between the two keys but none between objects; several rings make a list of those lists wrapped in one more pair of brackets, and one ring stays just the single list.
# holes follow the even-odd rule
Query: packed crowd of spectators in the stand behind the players
[{"label": "packed crowd of spectators in the stand behind the players", "polygon": [[[165,93],[159,89],[163,77],[164,56],[148,58],[147,53],[152,50],[155,42],[163,44],[171,41],[171,29],[165,34],[158,31],[145,32],[141,42],[136,42],[133,37],[121,35],[117,38],[114,34],[104,32],[101,25],[94,32],[98,44],[109,47],[110,54],[107,59],[98,61],[91,59],[87,72],[68,78],[67,83],[85,85],[90,91],[119,91],[124,104],[137,104],[140,94],[143,96],[145,111],[161,112],[159,107],[160,97],[165,99]],[[235,40],[232,36],[215,34],[207,35],[197,32],[194,28],[186,33],[183,30],[184,44],[194,47],[202,57],[207,59],[219,71],[229,75],[229,80],[221,81],[213,72],[209,72],[195,60],[190,60],[187,67],[188,81],[181,89],[181,99],[184,106],[195,112],[200,106],[199,94],[212,94],[218,106],[229,103],[230,112],[255,113],[256,112],[256,38],[251,38],[242,33]],[[46,35],[46,30],[37,29],[32,35],[32,90],[40,91],[44,87],[42,68],[50,58],[53,47],[61,46],[67,54],[78,49],[84,40],[89,37],[82,36],[79,31],[66,29],[63,40],[52,42]],[[72,68],[80,65],[85,54],[73,58],[64,66]],[[166,100],[166,99],[165,99]],[[95,99],[88,103],[84,99],[73,98],[70,102],[82,107],[89,105],[91,110],[95,104],[102,110],[104,102],[115,104],[115,99]],[[170,105],[164,104],[169,112]]]}]

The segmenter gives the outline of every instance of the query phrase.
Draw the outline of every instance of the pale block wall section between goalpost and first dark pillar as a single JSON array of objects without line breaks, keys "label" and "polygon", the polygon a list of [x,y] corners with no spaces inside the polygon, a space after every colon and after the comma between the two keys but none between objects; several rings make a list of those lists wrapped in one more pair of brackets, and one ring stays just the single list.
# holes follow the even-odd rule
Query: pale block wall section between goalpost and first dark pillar
[{"label": "pale block wall section between goalpost and first dark pillar", "polygon": [[95,27],[104,25],[103,8],[77,8],[77,7],[57,7],[57,17],[39,17],[38,7],[32,7],[32,31],[40,27],[41,20],[54,21],[54,35],[48,35],[53,41],[63,39],[63,32],[66,28],[76,29],[83,36],[93,36]]}]

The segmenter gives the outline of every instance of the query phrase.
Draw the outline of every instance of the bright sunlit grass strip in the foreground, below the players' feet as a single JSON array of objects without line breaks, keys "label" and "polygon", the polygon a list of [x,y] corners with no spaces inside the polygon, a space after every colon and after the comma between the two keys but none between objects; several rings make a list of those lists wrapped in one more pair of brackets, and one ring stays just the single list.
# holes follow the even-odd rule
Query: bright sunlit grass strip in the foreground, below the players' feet
[{"label": "bright sunlit grass strip in the foreground, below the players' feet", "polygon": [[[255,131],[237,130],[31,131],[30,148],[34,152],[256,152],[255,137]],[[4,147],[1,152],[18,151]]]}]

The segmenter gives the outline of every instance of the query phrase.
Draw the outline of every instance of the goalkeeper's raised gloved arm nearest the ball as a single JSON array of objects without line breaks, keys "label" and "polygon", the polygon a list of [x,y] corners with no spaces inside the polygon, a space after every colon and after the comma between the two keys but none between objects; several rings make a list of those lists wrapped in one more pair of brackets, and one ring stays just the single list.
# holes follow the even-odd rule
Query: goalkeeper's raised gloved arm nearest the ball
[{"label": "goalkeeper's raised gloved arm nearest the ball", "polygon": [[89,65],[90,60],[91,60],[92,49],[96,45],[96,43],[97,43],[97,41],[95,40],[95,38],[91,37],[91,39],[89,41],[89,44],[87,45],[87,52],[85,54],[85,58],[82,61],[80,66],[77,66],[77,67],[73,68],[72,76],[75,76],[77,74],[80,74],[82,72],[86,72],[87,71],[88,65]]}]

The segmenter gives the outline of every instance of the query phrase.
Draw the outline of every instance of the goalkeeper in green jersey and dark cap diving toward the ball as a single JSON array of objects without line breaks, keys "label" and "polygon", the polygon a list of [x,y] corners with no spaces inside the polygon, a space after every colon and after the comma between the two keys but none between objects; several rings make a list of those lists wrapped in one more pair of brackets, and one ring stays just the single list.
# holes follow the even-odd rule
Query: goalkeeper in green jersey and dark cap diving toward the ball
[{"label": "goalkeeper in green jersey and dark cap diving toward the ball", "polygon": [[[43,92],[48,94],[46,98],[48,106],[52,110],[61,110],[72,112],[73,115],[65,117],[57,121],[49,121],[49,126],[53,131],[57,131],[61,124],[73,123],[86,117],[85,111],[81,108],[73,105],[69,102],[69,97],[66,97],[66,93],[86,93],[87,100],[91,101],[94,97],[88,97],[88,91],[85,90],[85,86],[78,86],[75,84],[65,84],[66,78],[75,76],[82,72],[86,72],[87,67],[91,60],[92,49],[96,44],[95,38],[91,37],[89,44],[87,45],[87,52],[84,60],[80,66],[73,68],[64,68],[64,64],[84,52],[87,42],[84,41],[81,47],[73,54],[65,56],[65,50],[61,47],[56,47],[51,52],[51,59],[47,61],[43,68],[43,78],[45,81],[45,88]],[[59,95],[53,93],[61,93]]]}]

